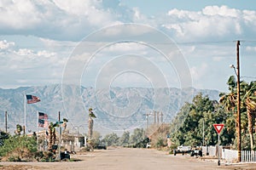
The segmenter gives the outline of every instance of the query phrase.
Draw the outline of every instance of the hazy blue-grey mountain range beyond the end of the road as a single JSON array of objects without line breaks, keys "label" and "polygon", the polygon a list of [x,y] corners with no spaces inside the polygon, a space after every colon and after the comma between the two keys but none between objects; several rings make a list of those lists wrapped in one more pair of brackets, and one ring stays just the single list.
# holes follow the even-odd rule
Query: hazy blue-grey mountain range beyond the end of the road
[{"label": "hazy blue-grey mountain range beyond the end of the road", "polygon": [[[38,96],[41,101],[26,104],[26,130],[36,131],[37,111],[49,115],[49,122],[56,122],[58,111],[61,118],[69,120],[71,131],[87,132],[88,109],[93,108],[97,118],[96,130],[102,133],[117,130],[124,131],[134,127],[146,127],[154,122],[154,111],[160,111],[163,122],[171,122],[184,102],[190,102],[198,93],[217,99],[217,90],[200,90],[195,88],[110,88],[94,89],[73,85],[49,85],[42,87],[26,87],[0,89],[0,128],[4,129],[4,111],[8,111],[9,132],[13,133],[16,124],[24,124],[24,95]],[[160,114],[161,115],[161,114]],[[157,116],[155,118],[157,122]]]}]

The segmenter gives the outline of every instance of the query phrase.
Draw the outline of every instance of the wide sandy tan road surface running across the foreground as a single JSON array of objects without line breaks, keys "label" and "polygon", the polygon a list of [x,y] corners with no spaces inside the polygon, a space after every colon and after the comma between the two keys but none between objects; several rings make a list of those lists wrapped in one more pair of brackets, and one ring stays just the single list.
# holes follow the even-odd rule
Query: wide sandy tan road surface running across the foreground
[{"label": "wide sandy tan road surface running across the foreground", "polygon": [[201,159],[169,155],[165,151],[153,149],[127,149],[108,148],[108,150],[95,150],[83,154],[71,155],[73,159],[81,161],[60,162],[8,162],[1,161],[0,169],[90,169],[90,170],[134,170],[134,169],[256,169],[256,164],[217,165],[217,160],[203,161]]}]

